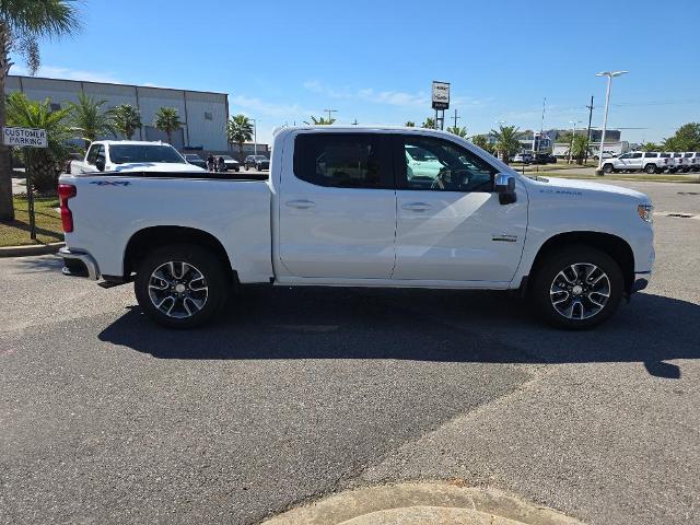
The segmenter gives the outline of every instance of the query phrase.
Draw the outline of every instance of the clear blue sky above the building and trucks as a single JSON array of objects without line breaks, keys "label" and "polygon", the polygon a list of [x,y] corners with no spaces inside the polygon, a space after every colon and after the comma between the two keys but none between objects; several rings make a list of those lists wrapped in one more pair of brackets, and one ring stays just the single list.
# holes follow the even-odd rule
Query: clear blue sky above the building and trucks
[{"label": "clear blue sky above the building and trucks", "polygon": [[[700,121],[700,2],[640,0],[83,0],[83,30],[42,43],[39,75],[229,93],[258,139],[337,109],[338,121],[401,125],[432,114],[432,80],[452,83],[469,133],[603,121],[660,140]],[[603,16],[600,19],[600,16]],[[11,71],[23,72],[15,59]],[[583,124],[579,125],[583,126]]]}]

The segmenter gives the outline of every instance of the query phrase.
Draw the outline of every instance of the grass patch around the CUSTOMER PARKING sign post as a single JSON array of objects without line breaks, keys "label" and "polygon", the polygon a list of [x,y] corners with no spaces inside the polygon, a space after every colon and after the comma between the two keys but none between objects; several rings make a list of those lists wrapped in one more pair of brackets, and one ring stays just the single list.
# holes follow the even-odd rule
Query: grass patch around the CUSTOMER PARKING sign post
[{"label": "grass patch around the CUSTOMER PARKING sign post", "polygon": [[58,197],[36,197],[34,212],[36,218],[36,241],[30,238],[30,212],[25,196],[14,196],[14,221],[0,222],[0,246],[21,246],[47,244],[63,241],[61,217],[58,211]]}]

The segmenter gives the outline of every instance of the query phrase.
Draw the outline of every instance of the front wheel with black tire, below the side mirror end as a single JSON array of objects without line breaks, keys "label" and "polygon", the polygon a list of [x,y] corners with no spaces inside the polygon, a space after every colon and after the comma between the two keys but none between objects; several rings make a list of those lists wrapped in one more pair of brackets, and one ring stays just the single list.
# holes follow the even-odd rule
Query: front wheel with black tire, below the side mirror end
[{"label": "front wheel with black tire, below the side mirror end", "polygon": [[[593,266],[598,270],[593,270]],[[573,268],[578,270],[581,279],[570,281],[574,276]],[[587,273],[588,271],[591,273]],[[560,277],[561,272],[565,272],[565,277]],[[604,277],[600,277],[600,272]],[[585,277],[590,277],[591,281],[586,281]],[[597,282],[592,283],[593,280]],[[560,282],[580,284],[565,289]],[[610,256],[592,246],[573,245],[546,256],[546,260],[539,265],[534,276],[529,292],[537,311],[547,323],[557,328],[584,330],[604,323],[615,314],[623,290],[622,271]],[[608,294],[607,300],[604,299],[605,293]],[[563,298],[567,298],[563,304],[559,301],[559,306],[555,306],[553,303]],[[595,298],[600,307],[595,306],[591,298]],[[571,306],[572,317],[568,316],[568,312],[560,312],[568,311],[568,306],[576,302],[581,305]]]}]

